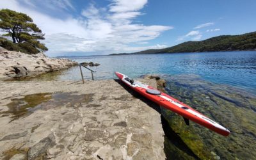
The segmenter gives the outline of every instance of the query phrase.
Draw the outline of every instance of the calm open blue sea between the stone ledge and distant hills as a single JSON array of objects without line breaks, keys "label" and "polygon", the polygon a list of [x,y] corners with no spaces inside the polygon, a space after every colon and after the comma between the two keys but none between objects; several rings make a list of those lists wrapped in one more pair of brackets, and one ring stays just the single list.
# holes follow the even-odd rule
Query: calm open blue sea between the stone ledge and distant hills
[{"label": "calm open blue sea between the stone ledge and distant hills", "polygon": [[[100,63],[95,70],[95,79],[116,78],[118,71],[137,78],[145,74],[195,74],[205,81],[228,84],[256,92],[256,51],[251,52],[195,52],[176,54],[141,54],[124,56],[91,56],[71,58],[83,62]],[[84,76],[91,74],[83,69]],[[58,80],[79,80],[79,67],[70,68],[56,76]]]}]

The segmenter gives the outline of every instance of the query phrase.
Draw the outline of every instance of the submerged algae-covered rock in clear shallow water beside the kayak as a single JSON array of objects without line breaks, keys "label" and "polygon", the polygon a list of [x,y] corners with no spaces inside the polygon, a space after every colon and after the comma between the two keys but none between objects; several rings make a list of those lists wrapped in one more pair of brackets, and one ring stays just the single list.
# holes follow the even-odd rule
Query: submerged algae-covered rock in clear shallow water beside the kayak
[{"label": "submerged algae-covered rock in clear shallow water beside the kayak", "polygon": [[[202,81],[194,75],[165,75],[163,78],[168,94],[230,129],[231,134],[226,138],[195,123],[186,126],[182,117],[162,109],[170,127],[196,156],[200,159],[256,157],[255,95],[232,86]],[[191,158],[184,156],[182,159]]]}]

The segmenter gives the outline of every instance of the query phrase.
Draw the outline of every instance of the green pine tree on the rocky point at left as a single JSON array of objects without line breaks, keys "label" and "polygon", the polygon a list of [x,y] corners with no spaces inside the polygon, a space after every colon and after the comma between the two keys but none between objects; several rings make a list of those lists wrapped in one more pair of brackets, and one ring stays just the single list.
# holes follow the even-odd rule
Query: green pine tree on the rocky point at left
[{"label": "green pine tree on the rocky point at left", "polygon": [[3,36],[12,38],[14,44],[31,50],[31,52],[47,51],[47,47],[40,43],[44,34],[31,17],[13,10],[0,10],[0,28],[6,32]]}]

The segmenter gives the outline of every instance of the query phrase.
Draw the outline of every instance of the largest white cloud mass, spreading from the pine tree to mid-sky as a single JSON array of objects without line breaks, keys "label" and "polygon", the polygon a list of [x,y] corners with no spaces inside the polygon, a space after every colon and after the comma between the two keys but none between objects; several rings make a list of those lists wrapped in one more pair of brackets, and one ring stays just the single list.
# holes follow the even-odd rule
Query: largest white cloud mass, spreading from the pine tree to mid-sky
[{"label": "largest white cloud mass, spreading from the pine tree to mid-sky", "polygon": [[[35,10],[40,8],[34,1],[27,6],[20,5],[19,0],[1,0],[1,8],[9,8],[17,12],[28,14],[45,33],[44,43],[49,48],[47,54],[56,55],[61,52],[130,52],[140,49],[166,47],[164,45],[148,45],[148,47],[130,47],[130,44],[147,43],[147,40],[157,38],[163,31],[172,26],[145,26],[136,24],[133,19],[142,15],[140,9],[147,4],[147,0],[131,1],[113,0],[105,8],[96,8],[91,4],[78,17],[67,16],[59,19],[47,13]],[[61,4],[61,2],[63,4]],[[63,10],[74,8],[72,1],[44,1],[52,8]],[[40,1],[40,3],[42,3]],[[29,7],[31,6],[31,7]],[[35,6],[35,7],[33,7]]]}]

